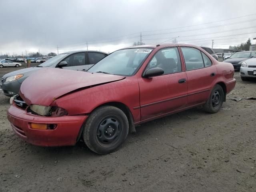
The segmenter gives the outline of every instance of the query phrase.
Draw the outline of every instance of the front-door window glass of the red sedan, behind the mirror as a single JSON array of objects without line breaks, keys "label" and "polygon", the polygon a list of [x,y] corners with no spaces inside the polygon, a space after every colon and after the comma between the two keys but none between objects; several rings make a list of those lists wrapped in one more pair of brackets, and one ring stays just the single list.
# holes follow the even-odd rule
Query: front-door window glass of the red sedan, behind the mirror
[{"label": "front-door window glass of the red sedan, behind the mirror", "polygon": [[146,70],[154,67],[162,68],[164,70],[164,74],[181,71],[178,48],[173,47],[159,50],[148,63]]}]

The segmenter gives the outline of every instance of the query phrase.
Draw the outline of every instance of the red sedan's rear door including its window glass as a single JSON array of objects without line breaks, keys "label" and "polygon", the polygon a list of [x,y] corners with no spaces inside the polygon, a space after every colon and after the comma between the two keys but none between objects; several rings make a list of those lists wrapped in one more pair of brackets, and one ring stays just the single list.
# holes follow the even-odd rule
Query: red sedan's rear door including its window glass
[{"label": "red sedan's rear door including its window glass", "polygon": [[188,106],[205,102],[213,87],[217,69],[206,54],[192,47],[181,47],[188,78]]}]

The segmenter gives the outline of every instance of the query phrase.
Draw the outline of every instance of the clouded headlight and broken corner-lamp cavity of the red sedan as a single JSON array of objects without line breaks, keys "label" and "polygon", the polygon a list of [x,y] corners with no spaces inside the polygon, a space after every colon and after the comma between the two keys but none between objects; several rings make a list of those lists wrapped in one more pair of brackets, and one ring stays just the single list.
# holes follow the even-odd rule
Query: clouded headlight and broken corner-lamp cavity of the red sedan
[{"label": "clouded headlight and broken corner-lamp cavity of the red sedan", "polygon": [[40,116],[47,116],[47,117],[59,117],[59,116],[66,116],[68,112],[57,106],[42,106],[42,105],[30,105],[28,112],[32,114],[37,114]]}]

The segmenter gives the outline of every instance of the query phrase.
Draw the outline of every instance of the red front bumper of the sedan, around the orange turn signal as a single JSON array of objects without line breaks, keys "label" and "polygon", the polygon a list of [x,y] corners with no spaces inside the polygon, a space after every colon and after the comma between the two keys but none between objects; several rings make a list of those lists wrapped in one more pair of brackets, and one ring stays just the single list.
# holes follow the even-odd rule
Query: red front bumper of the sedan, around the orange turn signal
[{"label": "red front bumper of the sedan, around the orange turn signal", "polygon": [[[76,144],[80,128],[88,116],[36,116],[17,106],[10,106],[7,118],[14,133],[28,143],[38,146],[71,146]],[[57,126],[54,130],[37,130],[30,127],[31,123]]]}]

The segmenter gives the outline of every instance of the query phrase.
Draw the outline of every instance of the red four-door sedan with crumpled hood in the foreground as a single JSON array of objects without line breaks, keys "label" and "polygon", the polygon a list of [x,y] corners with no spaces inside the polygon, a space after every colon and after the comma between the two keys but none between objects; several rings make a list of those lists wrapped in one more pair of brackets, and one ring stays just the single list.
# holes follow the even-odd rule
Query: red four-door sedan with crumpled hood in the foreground
[{"label": "red four-door sedan with crumpled hood in the foreground", "polygon": [[135,126],[198,105],[216,113],[235,86],[234,67],[186,44],[113,52],[87,72],[46,68],[28,77],[8,109],[14,132],[40,146],[116,150]]}]

